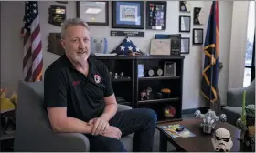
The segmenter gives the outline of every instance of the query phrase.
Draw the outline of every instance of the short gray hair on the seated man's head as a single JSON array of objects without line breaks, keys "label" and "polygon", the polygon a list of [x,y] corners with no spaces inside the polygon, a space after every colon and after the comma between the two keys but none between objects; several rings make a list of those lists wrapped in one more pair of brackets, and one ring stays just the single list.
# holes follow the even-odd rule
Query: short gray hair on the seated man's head
[{"label": "short gray hair on the seated man's head", "polygon": [[62,23],[61,27],[61,38],[64,38],[66,29],[69,26],[84,26],[90,31],[88,24],[80,18],[69,18]]}]

